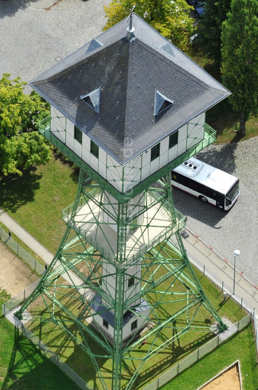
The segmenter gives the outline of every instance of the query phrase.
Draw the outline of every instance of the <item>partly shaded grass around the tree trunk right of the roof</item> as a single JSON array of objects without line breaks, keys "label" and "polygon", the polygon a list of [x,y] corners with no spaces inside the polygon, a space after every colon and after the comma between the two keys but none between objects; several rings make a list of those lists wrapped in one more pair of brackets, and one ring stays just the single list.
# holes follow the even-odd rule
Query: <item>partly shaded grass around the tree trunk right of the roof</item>
[{"label": "partly shaded grass around the tree trunk right of the roof", "polygon": [[[198,45],[188,48],[186,54],[221,82],[221,75],[218,69],[214,68],[213,60],[207,58]],[[235,132],[239,128],[239,118],[239,113],[232,110],[228,98],[207,111],[206,122],[217,131],[215,144],[243,141],[258,135],[258,117],[251,117],[246,122],[245,137]]]}]

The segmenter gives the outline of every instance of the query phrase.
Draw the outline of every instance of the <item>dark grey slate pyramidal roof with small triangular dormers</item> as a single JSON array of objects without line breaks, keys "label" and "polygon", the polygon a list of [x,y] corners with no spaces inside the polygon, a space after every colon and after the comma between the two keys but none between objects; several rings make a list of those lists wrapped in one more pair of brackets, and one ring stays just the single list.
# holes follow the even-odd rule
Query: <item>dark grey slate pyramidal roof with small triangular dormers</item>
[{"label": "dark grey slate pyramidal roof with small triangular dormers", "polygon": [[132,18],[132,38],[124,19],[30,82],[122,165],[230,94]]}]

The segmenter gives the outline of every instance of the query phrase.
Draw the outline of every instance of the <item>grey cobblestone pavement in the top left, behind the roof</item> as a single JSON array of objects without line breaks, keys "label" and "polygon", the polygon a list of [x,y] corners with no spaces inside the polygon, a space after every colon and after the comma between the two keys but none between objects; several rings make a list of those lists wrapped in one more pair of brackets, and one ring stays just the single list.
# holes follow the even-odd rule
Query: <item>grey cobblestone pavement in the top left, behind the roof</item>
[{"label": "grey cobblestone pavement in the top left, behind the roof", "polygon": [[[42,6],[51,0],[31,3]],[[104,4],[109,0],[61,0],[46,11],[24,0],[1,0],[0,76],[11,73],[28,82],[99,35]]]}]

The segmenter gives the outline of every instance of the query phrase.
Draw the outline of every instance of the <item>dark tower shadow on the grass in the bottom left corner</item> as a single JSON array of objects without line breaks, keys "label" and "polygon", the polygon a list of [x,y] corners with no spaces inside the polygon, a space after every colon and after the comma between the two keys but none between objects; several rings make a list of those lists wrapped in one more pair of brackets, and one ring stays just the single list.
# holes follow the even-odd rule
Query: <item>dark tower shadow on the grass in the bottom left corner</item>
[{"label": "dark tower shadow on the grass in the bottom left corner", "polygon": [[14,328],[14,344],[1,390],[77,390],[79,387]]}]

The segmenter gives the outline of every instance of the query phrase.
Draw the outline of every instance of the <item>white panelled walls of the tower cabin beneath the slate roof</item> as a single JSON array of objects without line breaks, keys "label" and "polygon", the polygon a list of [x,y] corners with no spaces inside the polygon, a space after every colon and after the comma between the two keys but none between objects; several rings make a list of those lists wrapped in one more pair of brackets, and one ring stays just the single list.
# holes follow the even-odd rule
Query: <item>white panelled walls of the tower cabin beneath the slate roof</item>
[{"label": "white panelled walls of the tower cabin beneath the slate roof", "polygon": [[[160,142],[160,156],[151,161],[151,149],[134,158],[124,167],[99,147],[98,159],[90,153],[90,138],[82,133],[82,145],[74,139],[74,124],[51,106],[51,132],[66,144],[116,190],[126,192],[164,167],[177,156],[198,144],[204,138],[205,113],[178,130],[178,144],[168,149],[169,137]],[[125,139],[125,149],[130,151],[133,140]],[[126,149],[126,150],[127,150]]]}]

